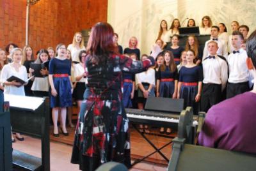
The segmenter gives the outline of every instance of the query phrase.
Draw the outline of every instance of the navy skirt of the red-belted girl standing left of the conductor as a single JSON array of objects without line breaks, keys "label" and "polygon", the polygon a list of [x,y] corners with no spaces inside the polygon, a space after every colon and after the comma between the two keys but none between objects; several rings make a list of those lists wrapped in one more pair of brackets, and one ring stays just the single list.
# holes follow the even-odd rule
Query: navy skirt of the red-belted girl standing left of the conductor
[{"label": "navy skirt of the red-belted girl standing left of the conductor", "polygon": [[[51,94],[51,108],[53,107],[71,107],[72,94],[71,85],[68,77],[53,77],[53,84],[57,91],[57,96]],[[50,90],[51,92],[51,90]]]}]

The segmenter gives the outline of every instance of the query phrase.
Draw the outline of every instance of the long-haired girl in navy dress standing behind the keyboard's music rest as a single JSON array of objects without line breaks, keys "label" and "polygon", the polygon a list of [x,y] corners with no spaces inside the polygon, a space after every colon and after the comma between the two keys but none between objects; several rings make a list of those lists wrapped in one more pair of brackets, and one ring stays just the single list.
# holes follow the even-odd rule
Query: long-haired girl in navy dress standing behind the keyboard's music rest
[{"label": "long-haired girl in navy dress standing behind the keyboard's music rest", "polygon": [[[177,98],[178,71],[173,58],[172,52],[164,52],[164,64],[160,66],[159,78],[157,78],[158,97]],[[164,128],[161,128],[160,133],[164,133]],[[170,128],[166,133],[171,133]]]}]

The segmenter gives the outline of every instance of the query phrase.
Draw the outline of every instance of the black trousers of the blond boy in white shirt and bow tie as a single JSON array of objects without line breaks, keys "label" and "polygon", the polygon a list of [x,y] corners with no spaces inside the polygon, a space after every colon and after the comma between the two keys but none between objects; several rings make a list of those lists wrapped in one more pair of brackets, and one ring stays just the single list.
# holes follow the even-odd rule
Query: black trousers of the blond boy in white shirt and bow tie
[{"label": "black trousers of the blond boy in white shirt and bow tie", "polygon": [[221,96],[221,84],[203,84],[201,110],[207,112],[209,108],[221,101]]}]

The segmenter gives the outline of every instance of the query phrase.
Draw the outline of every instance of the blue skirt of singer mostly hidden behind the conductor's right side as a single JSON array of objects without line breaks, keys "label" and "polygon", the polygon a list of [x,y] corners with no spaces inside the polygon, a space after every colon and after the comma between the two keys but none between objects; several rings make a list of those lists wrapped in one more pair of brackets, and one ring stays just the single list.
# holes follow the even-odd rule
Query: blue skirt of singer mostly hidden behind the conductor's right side
[{"label": "blue skirt of singer mostly hidden behind the conductor's right side", "polygon": [[123,103],[125,108],[132,107],[131,93],[132,93],[132,82],[124,82],[123,88]]}]

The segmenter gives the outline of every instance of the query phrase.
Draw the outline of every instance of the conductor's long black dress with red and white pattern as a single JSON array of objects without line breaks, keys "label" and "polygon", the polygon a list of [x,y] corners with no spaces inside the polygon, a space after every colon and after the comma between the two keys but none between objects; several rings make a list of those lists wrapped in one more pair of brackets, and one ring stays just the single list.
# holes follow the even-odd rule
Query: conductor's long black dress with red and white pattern
[{"label": "conductor's long black dress with red and white pattern", "polygon": [[72,151],[72,163],[81,170],[95,170],[107,161],[131,167],[129,121],[122,103],[122,71],[138,73],[154,64],[111,55],[104,64],[85,59],[88,78],[79,113]]}]

